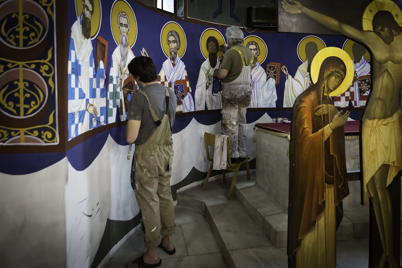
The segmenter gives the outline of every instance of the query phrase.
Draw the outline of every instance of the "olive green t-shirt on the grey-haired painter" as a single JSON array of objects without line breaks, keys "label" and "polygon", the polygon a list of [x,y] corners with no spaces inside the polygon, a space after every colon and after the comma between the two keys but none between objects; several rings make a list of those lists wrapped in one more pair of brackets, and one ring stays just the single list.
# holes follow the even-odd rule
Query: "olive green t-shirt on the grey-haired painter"
[{"label": "olive green t-shirt on the grey-haired painter", "polygon": [[[235,47],[240,49],[240,51],[243,53],[244,60],[246,61],[247,66],[251,61],[252,52],[243,44],[235,45]],[[228,75],[224,79],[222,79],[222,82],[228,83],[238,78],[243,68],[243,61],[239,52],[237,52],[235,49],[228,49],[222,60],[221,69],[222,68],[228,70]]]}]

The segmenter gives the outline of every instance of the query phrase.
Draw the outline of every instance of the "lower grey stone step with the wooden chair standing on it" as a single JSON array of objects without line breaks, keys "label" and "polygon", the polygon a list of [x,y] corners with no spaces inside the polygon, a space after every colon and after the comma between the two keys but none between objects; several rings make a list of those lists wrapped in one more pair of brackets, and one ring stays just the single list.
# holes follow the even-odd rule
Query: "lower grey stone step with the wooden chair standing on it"
[{"label": "lower grey stone step with the wooden chair standing on it", "polygon": [[230,180],[212,181],[205,191],[197,186],[178,193],[178,205],[205,214],[228,267],[286,267],[286,248],[274,247],[240,203],[226,199]]}]

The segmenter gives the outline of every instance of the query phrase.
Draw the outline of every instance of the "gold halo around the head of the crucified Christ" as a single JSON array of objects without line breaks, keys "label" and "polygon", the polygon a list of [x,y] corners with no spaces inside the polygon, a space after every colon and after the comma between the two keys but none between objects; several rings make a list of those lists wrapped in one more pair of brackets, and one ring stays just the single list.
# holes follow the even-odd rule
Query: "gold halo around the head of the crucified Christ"
[{"label": "gold halo around the head of the crucified Christ", "polygon": [[396,23],[398,23],[399,26],[402,26],[402,12],[397,4],[395,4],[391,0],[374,0],[367,5],[366,9],[363,12],[363,31],[373,31],[374,15],[377,14],[377,12],[380,10],[391,12]]}]

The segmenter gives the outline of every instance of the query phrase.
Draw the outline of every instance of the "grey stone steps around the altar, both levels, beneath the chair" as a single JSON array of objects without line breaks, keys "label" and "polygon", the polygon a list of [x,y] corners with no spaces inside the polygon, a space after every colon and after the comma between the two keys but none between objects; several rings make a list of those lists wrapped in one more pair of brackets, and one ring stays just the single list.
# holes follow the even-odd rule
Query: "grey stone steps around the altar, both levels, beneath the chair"
[{"label": "grey stone steps around the altar, both levels, beneath the chair", "polygon": [[[180,192],[178,204],[203,212],[228,267],[286,267],[287,211],[251,180],[238,176],[231,200],[226,199],[231,178],[211,181]],[[337,241],[369,237],[369,206],[349,207],[336,233]]]}]

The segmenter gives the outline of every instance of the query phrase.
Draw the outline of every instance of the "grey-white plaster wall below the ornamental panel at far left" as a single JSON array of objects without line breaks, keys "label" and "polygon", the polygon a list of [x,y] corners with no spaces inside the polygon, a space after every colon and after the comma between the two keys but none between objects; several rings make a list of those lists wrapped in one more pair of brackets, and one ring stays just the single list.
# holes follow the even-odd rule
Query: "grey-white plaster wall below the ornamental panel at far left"
[{"label": "grey-white plaster wall below the ornamental panel at far left", "polygon": [[66,161],[0,173],[0,267],[66,267]]}]

